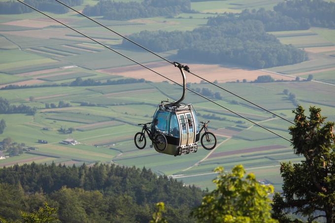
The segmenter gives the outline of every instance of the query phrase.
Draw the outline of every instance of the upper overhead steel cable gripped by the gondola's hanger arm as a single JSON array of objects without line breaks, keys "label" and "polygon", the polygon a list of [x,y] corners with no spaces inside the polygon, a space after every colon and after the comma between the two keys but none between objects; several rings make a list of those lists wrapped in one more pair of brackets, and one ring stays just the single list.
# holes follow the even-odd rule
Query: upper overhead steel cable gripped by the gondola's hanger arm
[{"label": "upper overhead steel cable gripped by the gondola's hanger arm", "polygon": [[[151,50],[149,50],[148,48],[146,48],[146,47],[144,47],[144,46],[142,46],[142,45],[136,43],[135,41],[129,39],[128,37],[126,37],[126,36],[124,36],[124,35],[122,35],[122,34],[120,34],[120,33],[118,33],[118,32],[113,31],[112,29],[108,28],[107,26],[105,26],[105,25],[101,24],[100,22],[98,22],[98,21],[96,21],[96,20],[90,18],[89,16],[83,14],[82,12],[79,12],[79,11],[75,10],[75,9],[72,8],[71,6],[68,6],[67,4],[63,3],[62,1],[60,1],[60,0],[55,0],[55,1],[61,3],[62,5],[66,6],[67,8],[69,8],[69,9],[71,9],[71,10],[77,12],[78,14],[84,16],[85,18],[88,18],[88,19],[91,20],[92,22],[97,23],[98,25],[100,25],[100,26],[102,26],[103,28],[109,30],[110,32],[113,32],[113,33],[115,33],[115,34],[121,36],[122,38],[125,38],[125,39],[127,39],[128,41],[134,43],[135,45],[141,47],[142,49],[144,49],[144,50],[146,50],[146,51],[148,51],[148,52],[150,52],[150,53],[156,55],[157,57],[161,58],[162,60],[166,61],[167,63],[170,63],[170,64],[174,65],[173,62],[167,60],[166,58],[160,56],[159,54],[156,54],[156,53],[152,52]],[[219,86],[219,85],[217,85],[217,84],[215,84],[215,83],[213,83],[213,82],[211,82],[211,81],[209,81],[209,80],[206,80],[205,78],[203,78],[203,77],[201,77],[201,76],[199,76],[199,75],[197,75],[197,74],[195,74],[195,73],[192,73],[192,72],[190,72],[190,71],[188,71],[188,72],[189,72],[190,74],[192,74],[192,75],[194,75],[194,76],[200,78],[201,80],[204,80],[204,81],[206,81],[206,82],[208,82],[208,83],[214,85],[215,87],[220,88],[220,89],[223,90],[223,91],[226,91],[226,92],[228,92],[228,93],[230,93],[230,94],[232,94],[232,95],[234,95],[234,96],[236,96],[236,97],[238,97],[238,98],[240,98],[240,99],[242,99],[242,100],[245,100],[245,101],[249,102],[250,104],[255,105],[255,106],[258,107],[258,108],[263,109],[264,111],[267,111],[268,113],[270,113],[270,114],[272,114],[272,115],[274,115],[274,116],[276,116],[276,117],[278,117],[278,118],[281,118],[281,119],[283,119],[283,120],[285,120],[285,121],[287,121],[287,122],[289,122],[289,123],[295,125],[294,122],[292,122],[292,121],[290,121],[290,120],[288,120],[288,119],[286,119],[286,118],[284,118],[284,117],[282,117],[282,116],[280,116],[280,115],[277,115],[277,114],[275,114],[275,113],[269,111],[268,109],[266,109],[266,108],[264,108],[264,107],[262,107],[262,106],[260,106],[260,105],[258,105],[258,104],[256,104],[256,103],[254,103],[254,102],[252,102],[252,101],[250,101],[250,100],[248,100],[248,99],[246,99],[246,98],[244,98],[244,97],[242,97],[242,96],[236,95],[235,93],[233,93],[233,92],[231,92],[231,91],[229,91],[229,90],[227,90],[227,89],[225,89],[225,88],[223,88],[223,87],[221,87],[221,86]]]}]

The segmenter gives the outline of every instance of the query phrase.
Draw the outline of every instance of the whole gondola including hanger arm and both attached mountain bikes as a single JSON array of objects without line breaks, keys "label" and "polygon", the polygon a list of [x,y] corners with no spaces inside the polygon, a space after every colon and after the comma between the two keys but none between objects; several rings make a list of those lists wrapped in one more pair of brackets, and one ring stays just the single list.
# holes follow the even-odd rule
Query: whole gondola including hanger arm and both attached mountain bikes
[{"label": "whole gondola including hanger arm and both attached mountain bikes", "polygon": [[[159,153],[173,156],[195,153],[198,150],[197,142],[201,139],[201,145],[206,150],[212,150],[216,146],[216,137],[208,131],[207,122],[201,122],[199,128],[197,112],[192,104],[184,104],[186,91],[186,79],[183,70],[189,72],[189,67],[174,62],[183,77],[183,95],[177,101],[162,101],[154,114],[153,122],[142,125],[142,131],[134,136],[135,146],[144,149],[146,145],[145,133],[152,141],[150,147],[154,147]],[[147,125],[151,125],[147,127]],[[200,133],[204,133],[200,137]]]}]

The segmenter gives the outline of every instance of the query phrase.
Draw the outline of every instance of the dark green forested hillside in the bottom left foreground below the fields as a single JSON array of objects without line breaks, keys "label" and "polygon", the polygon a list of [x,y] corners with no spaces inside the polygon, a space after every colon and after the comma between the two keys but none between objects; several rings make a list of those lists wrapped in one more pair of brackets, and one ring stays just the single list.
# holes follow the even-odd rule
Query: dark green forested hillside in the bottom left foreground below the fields
[{"label": "dark green forested hillside in the bottom left foreground below the fields", "polygon": [[62,222],[149,222],[154,203],[164,201],[168,222],[188,223],[203,192],[135,167],[24,164],[0,169],[0,218],[21,219],[44,201]]}]

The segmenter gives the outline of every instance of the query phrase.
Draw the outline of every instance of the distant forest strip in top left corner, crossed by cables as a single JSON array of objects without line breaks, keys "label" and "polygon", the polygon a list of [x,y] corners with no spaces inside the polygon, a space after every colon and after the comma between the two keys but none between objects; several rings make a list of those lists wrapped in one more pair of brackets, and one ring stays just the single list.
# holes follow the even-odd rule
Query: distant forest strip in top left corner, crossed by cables
[{"label": "distant forest strip in top left corner, crossed by cables", "polygon": [[[42,11],[53,13],[67,13],[68,8],[53,0],[24,0],[27,4]],[[70,6],[81,5],[84,0],[63,0],[63,2]],[[32,12],[33,9],[16,1],[0,2],[0,14],[22,14]]]}]

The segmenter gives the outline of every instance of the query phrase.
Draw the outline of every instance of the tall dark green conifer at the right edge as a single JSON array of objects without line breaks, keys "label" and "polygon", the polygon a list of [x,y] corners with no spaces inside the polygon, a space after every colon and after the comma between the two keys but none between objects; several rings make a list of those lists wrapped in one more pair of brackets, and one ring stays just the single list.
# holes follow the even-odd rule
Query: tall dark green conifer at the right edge
[{"label": "tall dark green conifer at the right edge", "polygon": [[[285,211],[293,210],[313,221],[326,217],[335,222],[335,145],[334,123],[325,122],[320,108],[310,107],[306,117],[302,106],[293,111],[295,126],[290,127],[294,152],[301,163],[281,163],[283,192],[274,195],[274,216],[289,221]],[[321,213],[321,214],[320,214]]]}]

